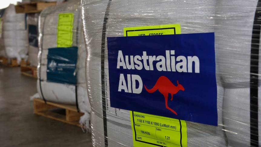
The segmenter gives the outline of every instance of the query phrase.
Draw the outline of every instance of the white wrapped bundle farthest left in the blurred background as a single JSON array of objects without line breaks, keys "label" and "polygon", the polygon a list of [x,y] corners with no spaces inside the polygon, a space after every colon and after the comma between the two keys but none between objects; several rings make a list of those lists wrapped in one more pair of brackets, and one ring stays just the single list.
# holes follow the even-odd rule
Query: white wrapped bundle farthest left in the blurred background
[{"label": "white wrapped bundle farthest left in the blurred background", "polygon": [[17,58],[20,63],[28,52],[25,13],[15,13],[15,5],[9,5],[2,17],[1,56]]}]

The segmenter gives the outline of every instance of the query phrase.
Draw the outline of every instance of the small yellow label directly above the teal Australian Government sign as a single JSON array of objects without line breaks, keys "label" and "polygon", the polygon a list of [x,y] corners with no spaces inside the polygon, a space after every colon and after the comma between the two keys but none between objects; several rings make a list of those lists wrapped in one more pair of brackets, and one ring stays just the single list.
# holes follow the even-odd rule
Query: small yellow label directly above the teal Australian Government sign
[{"label": "small yellow label directly above the teal Australian Government sign", "polygon": [[61,13],[57,26],[57,47],[71,47],[73,29],[73,13]]}]

